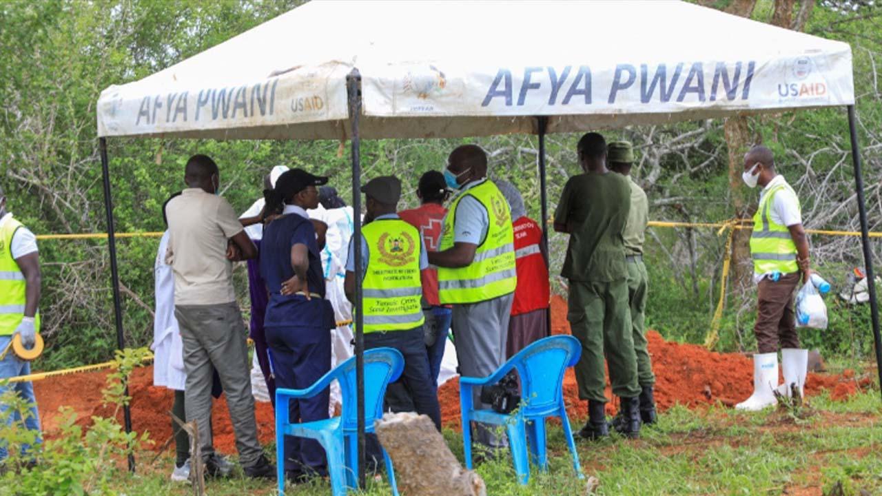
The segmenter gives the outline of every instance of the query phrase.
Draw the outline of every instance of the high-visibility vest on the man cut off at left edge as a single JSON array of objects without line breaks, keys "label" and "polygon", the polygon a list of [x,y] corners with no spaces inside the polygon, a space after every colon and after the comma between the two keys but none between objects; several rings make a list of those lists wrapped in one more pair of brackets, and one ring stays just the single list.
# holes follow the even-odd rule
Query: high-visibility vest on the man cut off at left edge
[{"label": "high-visibility vest on the man cut off at left edge", "polygon": [[[12,237],[22,227],[11,215],[0,226],[0,335],[15,333],[21,319],[25,318],[26,290],[25,274],[12,258]],[[34,327],[40,331],[40,313],[34,319]]]}]

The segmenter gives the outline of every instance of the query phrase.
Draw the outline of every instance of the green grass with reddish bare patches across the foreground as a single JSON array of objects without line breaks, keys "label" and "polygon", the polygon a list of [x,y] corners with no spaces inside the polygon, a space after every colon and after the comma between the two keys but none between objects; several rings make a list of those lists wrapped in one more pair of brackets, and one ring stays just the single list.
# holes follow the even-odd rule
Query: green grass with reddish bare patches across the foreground
[{"label": "green grass with reddish bare patches across the foreground", "polygon": [[[882,408],[878,391],[868,391],[846,402],[827,395],[813,398],[808,417],[795,420],[786,412],[736,412],[722,407],[706,411],[676,406],[645,428],[640,440],[613,436],[598,443],[578,443],[579,460],[587,476],[597,477],[597,494],[790,494],[800,488],[814,493],[841,483],[846,494],[861,489],[882,493]],[[578,428],[582,419],[572,419]],[[462,436],[445,430],[445,440],[462,459]],[[273,447],[267,447],[272,450]],[[138,475],[118,481],[128,496],[191,494],[189,485],[168,481],[171,455],[150,466],[140,457]],[[500,457],[477,466],[490,495],[586,494],[586,480],[575,477],[562,430],[549,426],[549,471],[531,471],[521,486],[510,458]],[[365,495],[389,494],[385,480],[370,482]],[[213,496],[269,495],[273,482],[243,478],[210,480]],[[289,486],[288,494],[330,494],[330,485],[318,480]]]}]

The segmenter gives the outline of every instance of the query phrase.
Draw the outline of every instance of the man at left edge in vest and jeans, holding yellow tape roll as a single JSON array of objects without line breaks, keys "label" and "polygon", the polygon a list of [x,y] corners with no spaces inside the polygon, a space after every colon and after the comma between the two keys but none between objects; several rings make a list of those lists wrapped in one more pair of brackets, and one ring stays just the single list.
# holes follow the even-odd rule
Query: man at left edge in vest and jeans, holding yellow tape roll
[{"label": "man at left edge in vest and jeans, holding yellow tape roll", "polygon": [[[31,363],[19,358],[11,349],[16,334],[26,349],[34,347],[36,334],[40,330],[41,274],[40,258],[37,252],[37,238],[12,214],[6,211],[6,196],[0,190],[0,381],[31,373]],[[40,415],[37,412],[37,399],[34,385],[30,381],[13,384],[0,383],[0,395],[14,391],[19,398],[31,404],[30,412],[21,418],[13,412],[7,422],[24,421],[26,429],[38,432],[36,442],[41,442]],[[0,402],[0,411],[6,410]],[[30,456],[31,447],[21,446],[21,455]],[[0,443],[0,470],[9,454],[6,446]]]}]

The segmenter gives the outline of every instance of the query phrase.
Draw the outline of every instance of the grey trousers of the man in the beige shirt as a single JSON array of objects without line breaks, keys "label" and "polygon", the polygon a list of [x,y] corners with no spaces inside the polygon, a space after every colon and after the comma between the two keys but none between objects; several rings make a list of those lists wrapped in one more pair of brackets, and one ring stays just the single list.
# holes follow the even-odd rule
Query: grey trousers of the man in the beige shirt
[{"label": "grey trousers of the man in the beige shirt", "polygon": [[175,305],[181,327],[183,367],[187,372],[184,407],[187,420],[195,420],[203,460],[214,453],[212,440],[212,380],[217,369],[227,395],[229,417],[235,433],[239,463],[249,467],[263,453],[258,442],[251,395],[250,364],[245,336],[248,332],[235,302],[228,304]]}]

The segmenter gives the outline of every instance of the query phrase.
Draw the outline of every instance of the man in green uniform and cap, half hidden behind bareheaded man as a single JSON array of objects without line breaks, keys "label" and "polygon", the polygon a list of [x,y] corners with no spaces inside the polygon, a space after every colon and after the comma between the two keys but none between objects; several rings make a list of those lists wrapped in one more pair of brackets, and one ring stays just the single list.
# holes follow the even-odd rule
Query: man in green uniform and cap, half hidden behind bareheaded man
[{"label": "man in green uniform and cap, half hidden behind bareheaded man", "polygon": [[[624,226],[624,259],[628,267],[628,301],[631,304],[631,329],[634,340],[634,353],[637,354],[637,376],[640,385],[640,420],[643,424],[655,423],[655,400],[653,386],[652,360],[647,350],[647,336],[644,328],[649,292],[647,266],[643,265],[643,241],[649,222],[649,201],[647,193],[631,177],[634,151],[627,141],[613,141],[607,146],[609,169],[628,178],[631,184],[631,212]],[[623,417],[616,417],[613,425],[618,429]]]}]

